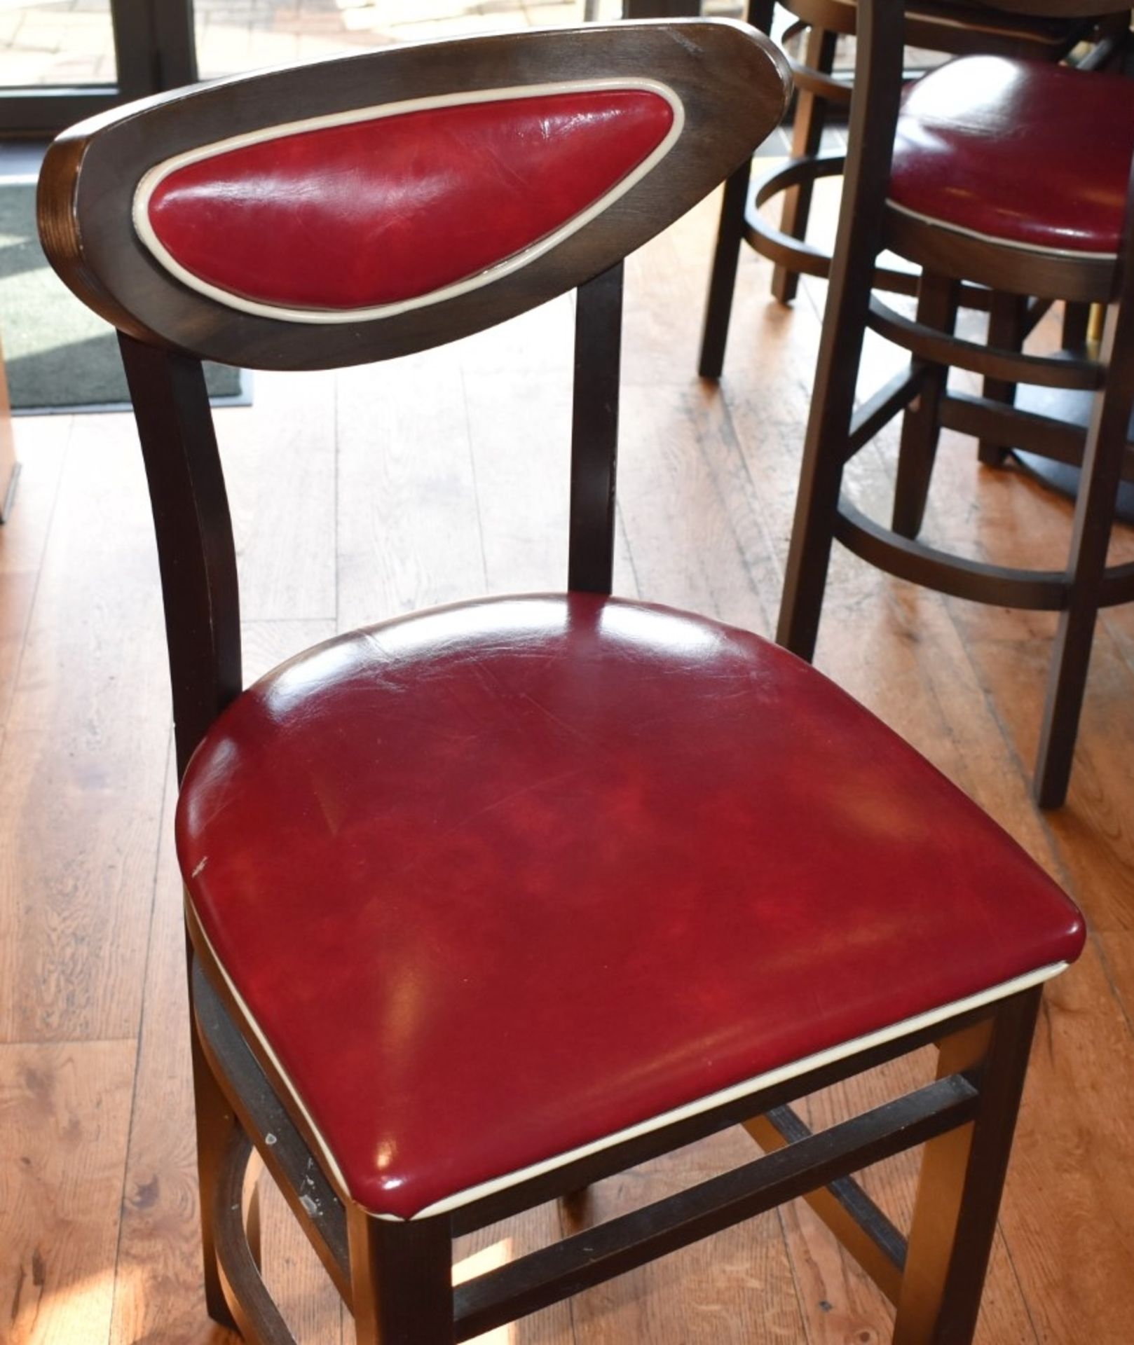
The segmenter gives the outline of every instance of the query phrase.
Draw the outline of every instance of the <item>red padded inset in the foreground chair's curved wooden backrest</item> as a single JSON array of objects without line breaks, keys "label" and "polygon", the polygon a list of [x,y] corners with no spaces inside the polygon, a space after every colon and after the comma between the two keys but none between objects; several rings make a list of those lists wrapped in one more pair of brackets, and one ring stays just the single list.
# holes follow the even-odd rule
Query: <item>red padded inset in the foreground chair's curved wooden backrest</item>
[{"label": "red padded inset in the foreground chair's curved wooden backrest", "polygon": [[179,266],[226,293],[324,311],[397,304],[576,219],[673,124],[659,93],[599,89],[280,128],[174,168],[148,221]]}]

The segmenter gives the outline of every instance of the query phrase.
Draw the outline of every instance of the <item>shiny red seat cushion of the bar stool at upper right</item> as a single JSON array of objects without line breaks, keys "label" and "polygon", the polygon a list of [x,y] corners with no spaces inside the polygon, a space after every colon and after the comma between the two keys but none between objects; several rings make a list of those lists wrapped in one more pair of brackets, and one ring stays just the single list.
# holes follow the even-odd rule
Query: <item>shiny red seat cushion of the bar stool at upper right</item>
[{"label": "shiny red seat cushion of the bar stool at upper right", "polygon": [[965,56],[907,90],[891,202],[1029,247],[1115,253],[1134,157],[1134,83]]}]

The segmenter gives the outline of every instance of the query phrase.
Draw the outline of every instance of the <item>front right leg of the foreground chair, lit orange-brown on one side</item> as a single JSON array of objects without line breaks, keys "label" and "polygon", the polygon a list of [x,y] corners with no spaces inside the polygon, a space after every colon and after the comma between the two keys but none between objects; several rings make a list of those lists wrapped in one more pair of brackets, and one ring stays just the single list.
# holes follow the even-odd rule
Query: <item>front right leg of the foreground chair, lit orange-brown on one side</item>
[{"label": "front right leg of the foreground chair, lit orange-brown on one side", "polygon": [[925,1145],[893,1345],[969,1345],[997,1227],[1040,990],[942,1042],[938,1077],[979,1088],[975,1120]]}]

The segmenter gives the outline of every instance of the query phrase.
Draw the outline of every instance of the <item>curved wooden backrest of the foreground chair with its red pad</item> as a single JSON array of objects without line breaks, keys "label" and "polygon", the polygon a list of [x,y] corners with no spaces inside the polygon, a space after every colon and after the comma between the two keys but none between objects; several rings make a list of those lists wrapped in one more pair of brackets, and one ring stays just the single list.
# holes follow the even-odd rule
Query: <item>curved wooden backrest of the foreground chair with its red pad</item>
[{"label": "curved wooden backrest of the foreground chair with its red pad", "polygon": [[365,363],[601,273],[751,155],[788,87],[725,20],[374,51],[83,122],[48,152],[40,227],[67,285],[141,340]]}]

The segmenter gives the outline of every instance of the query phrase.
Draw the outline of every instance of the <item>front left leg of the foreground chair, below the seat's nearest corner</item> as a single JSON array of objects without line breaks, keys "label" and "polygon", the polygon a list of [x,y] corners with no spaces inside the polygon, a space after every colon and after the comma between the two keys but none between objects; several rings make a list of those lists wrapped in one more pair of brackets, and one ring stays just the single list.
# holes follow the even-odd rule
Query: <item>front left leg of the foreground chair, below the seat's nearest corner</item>
[{"label": "front left leg of the foreground chair, below the seat's nearest corner", "polygon": [[358,1345],[452,1345],[452,1227],[347,1209]]}]

